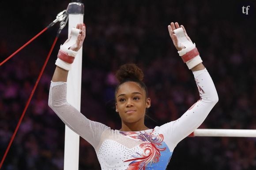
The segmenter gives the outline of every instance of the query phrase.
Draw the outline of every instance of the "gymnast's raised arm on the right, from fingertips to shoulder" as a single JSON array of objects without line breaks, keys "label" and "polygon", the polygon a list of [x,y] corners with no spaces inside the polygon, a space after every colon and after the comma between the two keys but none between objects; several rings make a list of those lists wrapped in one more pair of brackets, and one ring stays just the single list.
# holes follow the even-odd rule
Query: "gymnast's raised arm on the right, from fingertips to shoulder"
[{"label": "gymnast's raised arm on the right, from fingertips to shoulder", "polygon": [[160,126],[162,131],[168,134],[166,137],[169,146],[175,147],[178,142],[203,123],[211,109],[218,102],[218,94],[210,74],[202,64],[196,45],[188,37],[184,26],[172,22],[168,26],[168,30],[179,55],[188,68],[192,70],[200,94],[200,100],[194,103],[181,118]]}]

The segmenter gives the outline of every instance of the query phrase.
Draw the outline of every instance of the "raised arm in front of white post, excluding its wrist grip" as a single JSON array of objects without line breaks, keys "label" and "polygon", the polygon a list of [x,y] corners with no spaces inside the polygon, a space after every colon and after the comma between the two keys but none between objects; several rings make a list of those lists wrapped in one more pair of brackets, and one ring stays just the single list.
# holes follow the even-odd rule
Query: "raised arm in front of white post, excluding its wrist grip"
[{"label": "raised arm in front of white post, excluding its wrist grip", "polygon": [[[83,24],[78,24],[76,27],[82,30],[80,35],[78,35],[77,41],[70,48],[73,51],[78,51],[83,44],[85,37],[85,26]],[[69,40],[69,39],[68,39]],[[68,41],[66,41],[68,42]],[[65,43],[66,43],[65,42]],[[65,45],[64,43],[64,45]],[[59,58],[60,60],[60,58]],[[63,61],[60,61],[60,63]],[[65,63],[64,63],[65,64]],[[66,67],[62,67],[61,64],[56,67],[53,79],[49,90],[49,107],[53,109],[56,115],[75,133],[87,140],[91,145],[95,147],[98,146],[100,137],[102,133],[109,129],[102,123],[94,122],[86,118],[82,113],[80,113],[75,107],[67,102],[67,77],[68,70]]]}]

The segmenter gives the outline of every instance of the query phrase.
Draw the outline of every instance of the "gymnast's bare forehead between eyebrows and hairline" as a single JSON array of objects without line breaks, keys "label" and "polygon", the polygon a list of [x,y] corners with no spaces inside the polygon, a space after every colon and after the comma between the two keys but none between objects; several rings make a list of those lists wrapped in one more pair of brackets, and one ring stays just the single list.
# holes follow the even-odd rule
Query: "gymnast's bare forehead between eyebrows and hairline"
[{"label": "gymnast's bare forehead between eyebrows and hairline", "polygon": [[144,94],[144,90],[138,83],[128,81],[119,86],[117,90],[117,96],[119,94],[131,94],[132,92],[140,92],[141,94]]}]

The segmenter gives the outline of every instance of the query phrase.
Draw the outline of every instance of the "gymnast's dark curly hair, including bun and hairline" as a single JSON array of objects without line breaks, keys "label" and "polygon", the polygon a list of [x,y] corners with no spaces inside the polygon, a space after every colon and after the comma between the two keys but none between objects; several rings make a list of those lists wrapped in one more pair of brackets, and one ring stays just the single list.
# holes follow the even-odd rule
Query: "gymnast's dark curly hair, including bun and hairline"
[{"label": "gymnast's dark curly hair, including bun and hairline", "polygon": [[[122,65],[119,70],[117,70],[116,78],[119,81],[119,84],[115,90],[115,96],[117,94],[117,90],[119,86],[125,82],[133,81],[140,85],[142,89],[146,92],[146,97],[148,97],[147,86],[143,83],[144,74],[143,71],[136,66],[134,63],[124,64]],[[115,99],[116,100],[116,99]]]}]

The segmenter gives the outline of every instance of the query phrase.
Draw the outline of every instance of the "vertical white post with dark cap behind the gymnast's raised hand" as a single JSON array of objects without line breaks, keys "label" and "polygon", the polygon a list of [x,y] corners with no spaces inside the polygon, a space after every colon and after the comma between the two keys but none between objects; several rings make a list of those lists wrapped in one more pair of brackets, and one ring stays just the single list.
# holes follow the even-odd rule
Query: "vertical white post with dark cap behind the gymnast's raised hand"
[{"label": "vertical white post with dark cap behind the gymnast's raised hand", "polygon": [[[82,3],[68,4],[68,36],[71,28],[76,24],[83,23]],[[68,73],[67,81],[67,101],[78,111],[81,106],[81,78],[82,78],[82,49],[75,56],[72,69]],[[64,170],[79,169],[79,135],[73,132],[68,126],[65,126],[65,146],[64,146]]]}]

